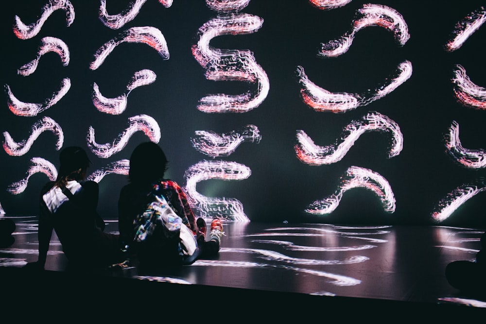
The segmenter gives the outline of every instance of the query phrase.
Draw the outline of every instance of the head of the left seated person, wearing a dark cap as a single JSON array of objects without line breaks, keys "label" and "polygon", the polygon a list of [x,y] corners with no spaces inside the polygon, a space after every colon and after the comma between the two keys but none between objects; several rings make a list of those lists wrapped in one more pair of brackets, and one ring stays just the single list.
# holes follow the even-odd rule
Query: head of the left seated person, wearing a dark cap
[{"label": "head of the left seated person, wearing a dark cap", "polygon": [[66,185],[68,180],[83,180],[86,170],[91,164],[86,151],[79,146],[69,146],[59,154],[59,171],[56,185]]}]

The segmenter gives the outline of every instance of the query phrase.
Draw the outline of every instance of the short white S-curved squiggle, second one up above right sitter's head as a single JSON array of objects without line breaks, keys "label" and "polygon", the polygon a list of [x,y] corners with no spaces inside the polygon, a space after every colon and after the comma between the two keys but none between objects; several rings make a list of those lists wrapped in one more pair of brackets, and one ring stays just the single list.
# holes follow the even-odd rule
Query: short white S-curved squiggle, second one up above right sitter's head
[{"label": "short white S-curved squiggle, second one up above right sitter's head", "polygon": [[128,92],[123,93],[121,96],[117,98],[106,98],[104,97],[98,85],[96,83],[93,84],[93,93],[92,99],[93,104],[102,113],[110,114],[110,115],[120,115],[123,111],[125,111],[127,106],[127,97],[130,92],[142,85],[150,85],[155,82],[157,76],[154,71],[149,69],[143,69],[137,71],[132,76],[132,79],[126,86]]}]

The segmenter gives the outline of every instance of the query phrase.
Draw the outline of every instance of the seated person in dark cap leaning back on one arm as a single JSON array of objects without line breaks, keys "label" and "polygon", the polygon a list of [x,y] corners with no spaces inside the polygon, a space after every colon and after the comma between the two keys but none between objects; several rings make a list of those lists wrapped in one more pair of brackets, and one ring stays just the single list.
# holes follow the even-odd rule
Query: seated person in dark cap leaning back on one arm
[{"label": "seated person in dark cap leaning back on one arm", "polygon": [[59,155],[55,181],[40,193],[39,256],[26,267],[44,269],[55,231],[69,265],[106,267],[124,260],[119,235],[104,233],[104,220],[97,213],[98,183],[85,181],[91,161],[81,147],[71,146]]}]

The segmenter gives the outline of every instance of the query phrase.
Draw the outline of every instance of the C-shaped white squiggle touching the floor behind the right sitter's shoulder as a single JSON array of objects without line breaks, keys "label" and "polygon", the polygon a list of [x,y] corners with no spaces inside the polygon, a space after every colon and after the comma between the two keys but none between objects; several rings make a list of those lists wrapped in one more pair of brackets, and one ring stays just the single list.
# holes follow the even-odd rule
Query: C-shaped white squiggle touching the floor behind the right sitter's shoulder
[{"label": "C-shaped white squiggle touching the floor behind the right sitter's shoulder", "polygon": [[247,166],[227,161],[201,161],[185,173],[188,202],[200,217],[225,218],[232,221],[249,222],[243,212],[243,204],[234,198],[210,198],[196,190],[196,184],[203,180],[243,180],[251,175]]}]

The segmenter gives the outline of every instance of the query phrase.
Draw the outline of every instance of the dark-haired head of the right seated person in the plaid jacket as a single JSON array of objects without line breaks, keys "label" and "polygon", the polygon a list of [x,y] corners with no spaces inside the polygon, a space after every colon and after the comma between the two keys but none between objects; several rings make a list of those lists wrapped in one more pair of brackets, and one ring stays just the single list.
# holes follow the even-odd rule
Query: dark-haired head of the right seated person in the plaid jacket
[{"label": "dark-haired head of the right seated person in the plaid jacket", "polygon": [[168,167],[164,151],[153,142],[139,144],[130,156],[130,182],[146,184],[164,177]]}]

